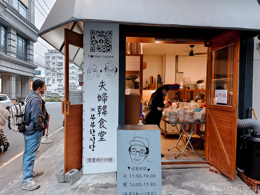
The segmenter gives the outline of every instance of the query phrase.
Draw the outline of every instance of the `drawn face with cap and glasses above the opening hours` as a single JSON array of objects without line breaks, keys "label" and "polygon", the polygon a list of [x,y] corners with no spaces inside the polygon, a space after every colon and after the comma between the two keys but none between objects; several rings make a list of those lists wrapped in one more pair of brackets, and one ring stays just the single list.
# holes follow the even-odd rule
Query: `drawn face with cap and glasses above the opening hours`
[{"label": "drawn face with cap and glasses above the opening hours", "polygon": [[148,140],[146,138],[135,137],[133,141],[129,143],[131,144],[129,147],[131,160],[137,165],[142,163],[149,153]]}]

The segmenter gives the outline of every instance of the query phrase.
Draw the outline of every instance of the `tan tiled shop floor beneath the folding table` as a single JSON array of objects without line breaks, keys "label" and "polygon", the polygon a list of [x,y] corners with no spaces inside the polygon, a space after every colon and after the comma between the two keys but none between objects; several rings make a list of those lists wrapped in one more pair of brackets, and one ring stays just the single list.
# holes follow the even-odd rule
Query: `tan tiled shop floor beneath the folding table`
[{"label": "tan tiled shop floor beneath the folding table", "polygon": [[[182,140],[180,140],[177,148],[175,147],[170,151],[168,151],[168,149],[175,146],[178,139],[179,139],[179,135],[167,135],[165,139],[163,134],[161,134],[161,151],[162,154],[164,154],[162,160],[201,159],[201,157],[196,155],[193,151],[189,150],[188,148],[185,150],[185,152],[182,155],[180,155],[178,158],[175,159],[174,157],[180,154],[184,149],[184,146],[182,145],[183,143]],[[195,149],[195,152],[202,155],[205,151]]]}]

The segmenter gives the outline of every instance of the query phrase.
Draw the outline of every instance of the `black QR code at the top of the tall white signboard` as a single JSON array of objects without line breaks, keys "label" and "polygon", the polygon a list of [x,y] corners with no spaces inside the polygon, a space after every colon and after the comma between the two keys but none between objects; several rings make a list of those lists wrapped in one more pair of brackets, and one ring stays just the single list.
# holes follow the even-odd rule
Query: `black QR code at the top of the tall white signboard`
[{"label": "black QR code at the top of the tall white signboard", "polygon": [[112,52],[112,31],[90,30],[90,52]]}]

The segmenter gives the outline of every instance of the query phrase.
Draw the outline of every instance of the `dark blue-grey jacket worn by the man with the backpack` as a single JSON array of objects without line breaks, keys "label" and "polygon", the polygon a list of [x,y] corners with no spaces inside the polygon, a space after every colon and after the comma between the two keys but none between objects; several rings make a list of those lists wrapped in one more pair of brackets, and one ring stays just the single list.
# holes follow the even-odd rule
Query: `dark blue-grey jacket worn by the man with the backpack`
[{"label": "dark blue-grey jacket worn by the man with the backpack", "polygon": [[[38,95],[33,91],[28,97]],[[39,96],[39,95],[38,95]],[[28,126],[25,135],[32,135],[36,131],[43,131],[48,126],[48,113],[45,108],[45,102],[41,97],[32,98],[26,103],[25,108],[25,124]]]}]

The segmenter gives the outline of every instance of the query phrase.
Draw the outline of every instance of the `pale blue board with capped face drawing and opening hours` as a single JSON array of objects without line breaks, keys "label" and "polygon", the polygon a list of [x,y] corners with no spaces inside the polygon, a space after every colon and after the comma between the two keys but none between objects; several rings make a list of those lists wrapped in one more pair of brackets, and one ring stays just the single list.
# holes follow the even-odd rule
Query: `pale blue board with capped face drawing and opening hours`
[{"label": "pale blue board with capped face drawing and opening hours", "polygon": [[117,194],[162,194],[160,130],[117,131]]}]

